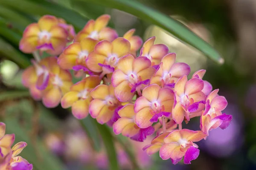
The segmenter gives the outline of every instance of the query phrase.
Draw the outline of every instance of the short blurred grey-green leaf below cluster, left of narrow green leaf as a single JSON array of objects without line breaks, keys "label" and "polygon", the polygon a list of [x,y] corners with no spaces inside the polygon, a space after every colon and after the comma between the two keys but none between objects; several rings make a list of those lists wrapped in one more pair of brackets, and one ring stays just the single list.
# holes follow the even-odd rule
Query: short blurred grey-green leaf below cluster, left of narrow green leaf
[{"label": "short blurred grey-green leaf below cluster, left of narrow green leaf", "polygon": [[93,118],[87,116],[87,118],[80,120],[80,125],[83,127],[86,135],[89,137],[90,143],[94,149],[99,151],[101,139],[99,138],[99,132]]}]

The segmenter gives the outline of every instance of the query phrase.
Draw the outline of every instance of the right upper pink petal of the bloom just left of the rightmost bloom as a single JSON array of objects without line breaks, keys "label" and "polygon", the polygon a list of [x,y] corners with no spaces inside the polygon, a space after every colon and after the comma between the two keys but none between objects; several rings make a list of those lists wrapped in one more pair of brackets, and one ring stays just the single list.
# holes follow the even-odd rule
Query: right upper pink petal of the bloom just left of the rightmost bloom
[{"label": "right upper pink petal of the bloom just left of the rightmost bloom", "polygon": [[195,94],[202,91],[204,88],[204,81],[202,79],[190,79],[185,85],[185,94]]}]

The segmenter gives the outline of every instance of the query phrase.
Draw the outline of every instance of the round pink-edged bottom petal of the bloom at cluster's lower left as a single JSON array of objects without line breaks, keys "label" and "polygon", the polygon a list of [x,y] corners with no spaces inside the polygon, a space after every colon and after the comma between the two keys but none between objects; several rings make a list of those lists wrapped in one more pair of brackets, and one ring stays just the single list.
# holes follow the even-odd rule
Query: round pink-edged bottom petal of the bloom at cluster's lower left
[{"label": "round pink-edged bottom petal of the bloom at cluster's lower left", "polygon": [[55,108],[61,101],[61,91],[59,88],[51,88],[46,90],[43,94],[43,104],[47,108]]}]

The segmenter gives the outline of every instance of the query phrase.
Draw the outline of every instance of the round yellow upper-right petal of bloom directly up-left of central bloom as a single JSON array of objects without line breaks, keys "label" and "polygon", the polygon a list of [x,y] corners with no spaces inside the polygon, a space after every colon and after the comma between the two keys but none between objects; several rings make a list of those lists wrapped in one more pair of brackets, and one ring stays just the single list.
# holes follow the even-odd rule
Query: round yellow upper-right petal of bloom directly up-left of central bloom
[{"label": "round yellow upper-right petal of bloom directly up-left of central bloom", "polygon": [[130,42],[122,37],[118,37],[112,42],[112,53],[116,54],[118,57],[123,57],[130,51]]}]

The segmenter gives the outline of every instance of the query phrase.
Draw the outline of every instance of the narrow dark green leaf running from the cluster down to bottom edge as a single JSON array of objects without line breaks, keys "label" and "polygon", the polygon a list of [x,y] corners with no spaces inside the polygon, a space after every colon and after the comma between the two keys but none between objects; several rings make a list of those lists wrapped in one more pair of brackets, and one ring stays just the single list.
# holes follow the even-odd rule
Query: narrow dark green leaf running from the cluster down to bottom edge
[{"label": "narrow dark green leaf running from the cluster down to bottom edge", "polygon": [[108,162],[110,170],[119,170],[116,148],[114,146],[113,136],[106,125],[100,125],[94,120],[100,135],[102,136],[103,144],[105,145],[106,153],[108,154]]}]

